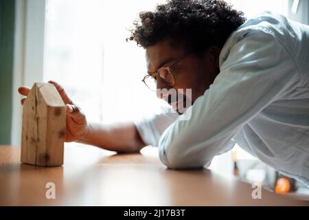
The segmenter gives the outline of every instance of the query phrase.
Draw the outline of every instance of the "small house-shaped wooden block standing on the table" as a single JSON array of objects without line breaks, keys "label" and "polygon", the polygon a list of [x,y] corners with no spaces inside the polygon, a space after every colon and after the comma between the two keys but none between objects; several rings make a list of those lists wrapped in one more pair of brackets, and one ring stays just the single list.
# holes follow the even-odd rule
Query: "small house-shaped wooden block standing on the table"
[{"label": "small house-shaped wooden block standing on the table", "polygon": [[65,103],[54,85],[34,83],[23,104],[21,162],[61,166],[65,142]]}]

